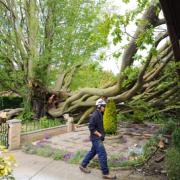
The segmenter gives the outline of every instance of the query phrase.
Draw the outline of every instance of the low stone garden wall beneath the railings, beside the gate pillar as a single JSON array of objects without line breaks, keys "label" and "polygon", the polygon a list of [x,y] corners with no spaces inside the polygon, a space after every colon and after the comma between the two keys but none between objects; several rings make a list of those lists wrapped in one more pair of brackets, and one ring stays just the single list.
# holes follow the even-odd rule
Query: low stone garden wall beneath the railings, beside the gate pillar
[{"label": "low stone garden wall beneath the railings, beside the gate pillar", "polygon": [[46,137],[56,136],[64,133],[67,133],[67,125],[61,125],[57,127],[21,133],[20,142],[21,144],[29,143],[33,141],[42,140]]}]

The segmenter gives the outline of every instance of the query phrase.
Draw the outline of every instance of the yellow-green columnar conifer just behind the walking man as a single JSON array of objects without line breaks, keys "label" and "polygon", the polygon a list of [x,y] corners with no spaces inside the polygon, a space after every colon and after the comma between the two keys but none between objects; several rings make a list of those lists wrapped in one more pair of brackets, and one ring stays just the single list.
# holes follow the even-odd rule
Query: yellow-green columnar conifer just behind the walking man
[{"label": "yellow-green columnar conifer just behind the walking man", "polygon": [[107,134],[116,134],[117,132],[117,113],[113,100],[110,100],[106,105],[104,112],[104,129]]}]

